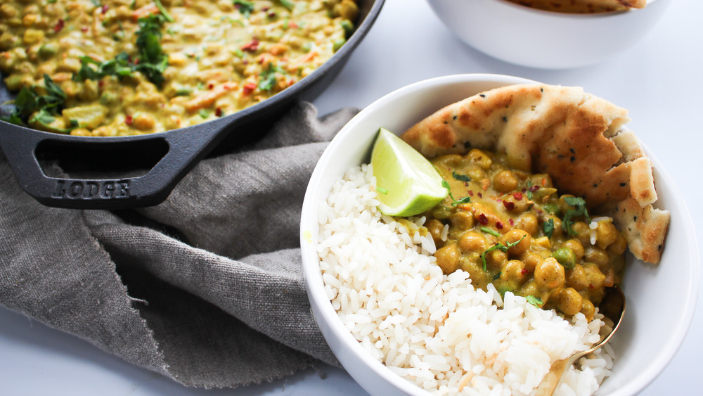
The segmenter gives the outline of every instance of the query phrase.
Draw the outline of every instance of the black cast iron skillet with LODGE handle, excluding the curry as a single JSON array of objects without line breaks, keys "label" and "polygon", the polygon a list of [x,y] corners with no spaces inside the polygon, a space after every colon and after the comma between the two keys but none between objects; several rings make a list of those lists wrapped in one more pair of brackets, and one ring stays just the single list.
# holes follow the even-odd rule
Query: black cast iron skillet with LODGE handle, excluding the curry
[{"label": "black cast iron skillet with LODGE handle, excluding the curry", "polygon": [[[247,135],[257,133],[257,124],[275,120],[296,101],[311,100],[327,87],[368,33],[384,1],[359,0],[360,23],[330,60],[290,88],[237,113],[192,127],[119,137],[54,134],[0,120],[0,147],[22,189],[44,205],[80,209],[156,205],[226,136],[250,139]],[[4,84],[0,97],[11,97]],[[52,174],[42,167],[44,160],[63,160],[78,169],[66,172],[69,177]],[[135,174],[137,169],[146,173]]]}]

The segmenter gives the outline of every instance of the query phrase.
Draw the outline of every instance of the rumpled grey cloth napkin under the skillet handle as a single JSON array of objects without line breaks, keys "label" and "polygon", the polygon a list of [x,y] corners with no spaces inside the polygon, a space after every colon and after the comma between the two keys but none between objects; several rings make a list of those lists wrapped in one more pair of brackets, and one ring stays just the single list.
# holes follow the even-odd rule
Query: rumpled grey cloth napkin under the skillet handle
[{"label": "rumpled grey cloth napkin under the skillet handle", "polygon": [[319,156],[356,112],[318,118],[299,103],[138,210],[40,205],[0,153],[0,305],[184,385],[338,365],[310,312],[299,216]]}]

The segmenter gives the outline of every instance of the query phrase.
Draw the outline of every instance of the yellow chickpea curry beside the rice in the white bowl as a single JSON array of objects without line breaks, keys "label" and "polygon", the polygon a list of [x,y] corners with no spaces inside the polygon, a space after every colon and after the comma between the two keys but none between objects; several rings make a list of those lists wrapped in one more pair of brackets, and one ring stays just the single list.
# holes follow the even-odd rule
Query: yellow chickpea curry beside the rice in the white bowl
[{"label": "yellow chickpea curry beside the rice in the white bowl", "polygon": [[559,196],[548,174],[512,170],[503,155],[472,149],[432,163],[451,191],[425,213],[445,274],[462,269],[479,288],[593,319],[624,271],[612,219],[590,217],[582,198]]}]

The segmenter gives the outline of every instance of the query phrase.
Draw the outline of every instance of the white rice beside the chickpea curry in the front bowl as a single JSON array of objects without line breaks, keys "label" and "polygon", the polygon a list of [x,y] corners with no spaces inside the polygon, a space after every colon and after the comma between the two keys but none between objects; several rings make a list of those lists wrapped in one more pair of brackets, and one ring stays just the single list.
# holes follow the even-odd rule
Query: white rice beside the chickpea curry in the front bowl
[{"label": "white rice beside the chickpea curry in the front bowl", "polygon": [[[370,165],[354,167],[319,209],[318,254],[340,319],[370,355],[437,395],[529,395],[552,362],[586,350],[605,322],[569,322],[462,271],[444,275],[424,218],[406,226],[377,209]],[[555,394],[591,395],[612,369],[608,345],[572,367]]]}]

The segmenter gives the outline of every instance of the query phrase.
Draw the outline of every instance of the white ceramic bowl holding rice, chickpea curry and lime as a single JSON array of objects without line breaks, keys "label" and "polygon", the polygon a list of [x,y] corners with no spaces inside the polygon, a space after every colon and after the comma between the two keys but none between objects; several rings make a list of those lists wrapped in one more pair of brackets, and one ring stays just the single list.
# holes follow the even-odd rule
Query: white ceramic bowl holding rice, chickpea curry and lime
[{"label": "white ceramic bowl holding rice, chickpea curry and lime", "polygon": [[[302,207],[303,271],[314,317],[344,369],[372,395],[423,395],[423,390],[392,373],[364,352],[337,317],[323,286],[316,253],[318,205],[335,179],[350,167],[370,160],[379,127],[400,133],[435,110],[480,91],[530,82],[502,75],[451,75],[398,89],[363,109],[342,128],[323,153],[310,179]],[[624,103],[620,103],[624,106]],[[659,200],[671,211],[671,226],[659,265],[628,255],[624,279],[627,309],[624,323],[612,340],[617,354],[613,375],[599,395],[633,395],[652,381],[681,345],[697,298],[699,258],[688,210],[671,177],[652,157]],[[655,346],[655,347],[654,347]]]}]

